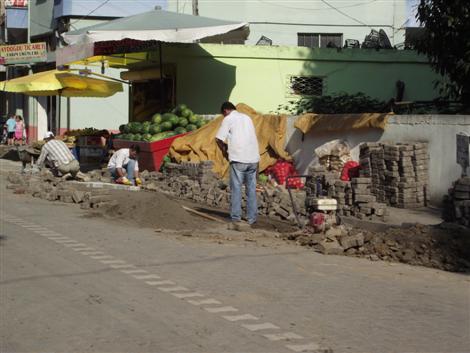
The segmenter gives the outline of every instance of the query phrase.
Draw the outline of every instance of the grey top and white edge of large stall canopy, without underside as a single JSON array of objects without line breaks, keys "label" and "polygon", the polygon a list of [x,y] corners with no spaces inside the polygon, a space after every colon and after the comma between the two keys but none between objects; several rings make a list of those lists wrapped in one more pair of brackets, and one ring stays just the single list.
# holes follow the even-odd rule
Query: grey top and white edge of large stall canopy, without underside
[{"label": "grey top and white edge of large stall canopy, without underside", "polygon": [[[246,22],[153,10],[62,34],[69,44],[135,39],[172,43],[192,43],[203,38],[240,30],[240,39],[248,36]],[[234,39],[233,35],[230,37]]]}]

